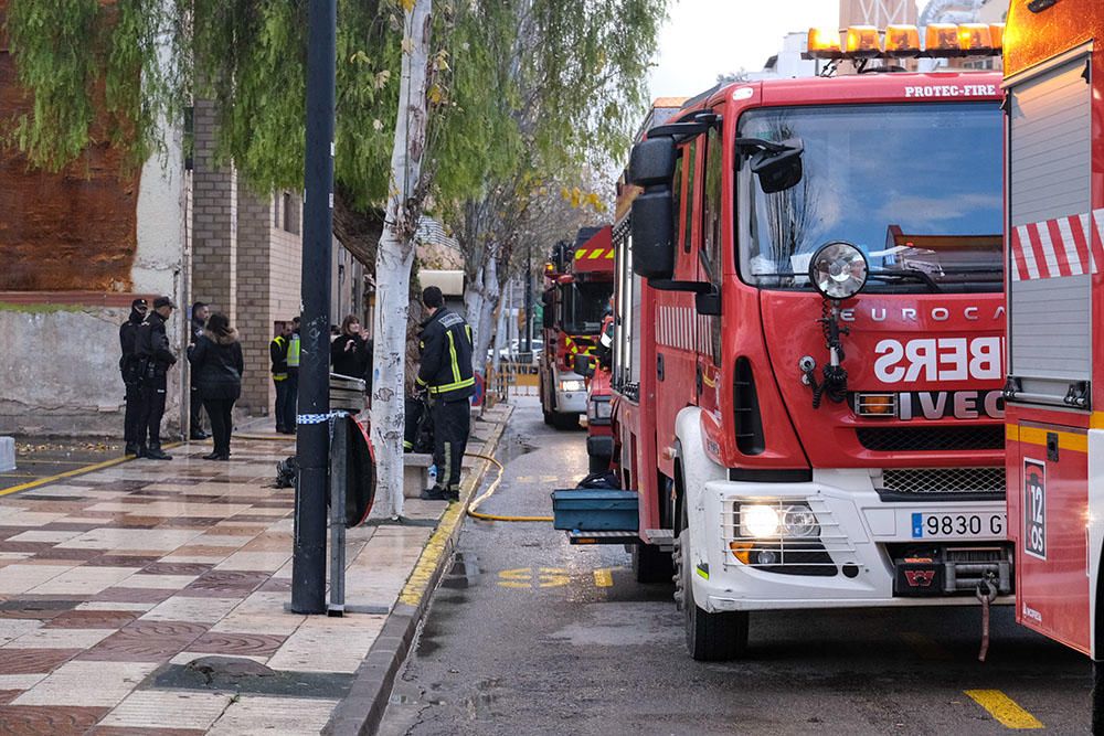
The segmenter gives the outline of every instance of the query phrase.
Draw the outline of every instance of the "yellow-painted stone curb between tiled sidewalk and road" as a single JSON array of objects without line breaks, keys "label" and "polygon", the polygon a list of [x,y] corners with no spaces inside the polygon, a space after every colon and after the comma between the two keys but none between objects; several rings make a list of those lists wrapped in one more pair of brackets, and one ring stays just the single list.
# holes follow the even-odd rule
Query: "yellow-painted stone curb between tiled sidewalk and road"
[{"label": "yellow-painted stone curb between tiled sidewalk and road", "polygon": [[[493,456],[498,450],[498,444],[512,414],[513,406],[510,405],[506,418],[491,430],[484,444],[484,455]],[[478,471],[469,474],[464,481],[464,503],[452,504],[440,518],[440,523],[423,547],[422,555],[399,596],[399,601],[383,623],[383,630],[358,668],[349,694],[338,703],[326,727],[322,728],[322,734],[368,736],[379,729],[383,714],[388,710],[395,679],[410,654],[418,626],[429,609],[428,594],[437,587],[446,564],[453,557],[453,551],[456,550],[460,538],[468,504],[475,498],[490,467],[487,460],[481,461]]]}]

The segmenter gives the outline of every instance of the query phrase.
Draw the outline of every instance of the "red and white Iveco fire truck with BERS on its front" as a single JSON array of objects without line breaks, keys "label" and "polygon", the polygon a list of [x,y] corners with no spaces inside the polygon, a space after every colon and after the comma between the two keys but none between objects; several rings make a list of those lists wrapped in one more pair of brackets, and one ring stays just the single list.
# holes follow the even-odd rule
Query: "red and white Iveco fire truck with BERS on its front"
[{"label": "red and white Iveco fire truck with BERS on its front", "polygon": [[556,526],[635,543],[641,580],[673,548],[694,659],[742,655],[751,611],[1011,601],[1000,76],[872,71],[991,54],[1000,31],[810,33],[868,73],[713,89],[633,150],[625,497],[558,492]]}]

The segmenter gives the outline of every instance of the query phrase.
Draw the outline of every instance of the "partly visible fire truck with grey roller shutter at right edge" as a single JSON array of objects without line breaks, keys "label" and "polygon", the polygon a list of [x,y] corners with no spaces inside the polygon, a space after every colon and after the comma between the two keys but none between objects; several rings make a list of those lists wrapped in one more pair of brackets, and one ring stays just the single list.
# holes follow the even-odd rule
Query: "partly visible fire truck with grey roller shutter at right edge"
[{"label": "partly visible fire truck with grey roller shutter at right edge", "polygon": [[[1025,626],[1100,662],[1104,8],[1015,0],[1005,52],[1007,477]],[[1101,344],[1095,342],[1095,344]],[[1097,687],[1101,686],[1097,668]],[[1098,694],[1098,692],[1094,693]],[[1094,697],[1094,725],[1104,730]]]}]

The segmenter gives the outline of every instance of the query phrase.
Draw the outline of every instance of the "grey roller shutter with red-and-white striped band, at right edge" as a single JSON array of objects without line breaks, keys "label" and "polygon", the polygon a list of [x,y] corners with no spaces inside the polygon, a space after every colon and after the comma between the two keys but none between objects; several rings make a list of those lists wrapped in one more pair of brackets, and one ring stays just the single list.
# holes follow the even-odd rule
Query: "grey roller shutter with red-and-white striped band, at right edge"
[{"label": "grey roller shutter with red-and-white striped band, at right edge", "polygon": [[1089,55],[1009,86],[1009,374],[1023,401],[1062,405],[1091,376]]}]

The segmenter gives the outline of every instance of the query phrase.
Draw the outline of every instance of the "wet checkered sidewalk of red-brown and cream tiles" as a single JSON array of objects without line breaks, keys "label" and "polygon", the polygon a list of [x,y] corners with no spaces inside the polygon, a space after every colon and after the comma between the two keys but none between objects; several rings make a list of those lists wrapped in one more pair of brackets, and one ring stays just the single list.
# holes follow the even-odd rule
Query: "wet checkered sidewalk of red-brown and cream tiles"
[{"label": "wet checkered sidewalk of red-brown and cream tiles", "polygon": [[[0,733],[326,724],[386,617],[285,612],[294,499],[269,484],[294,445],[209,451],[0,498]],[[347,605],[390,609],[444,508],[407,501],[414,524],[351,530]]]}]

